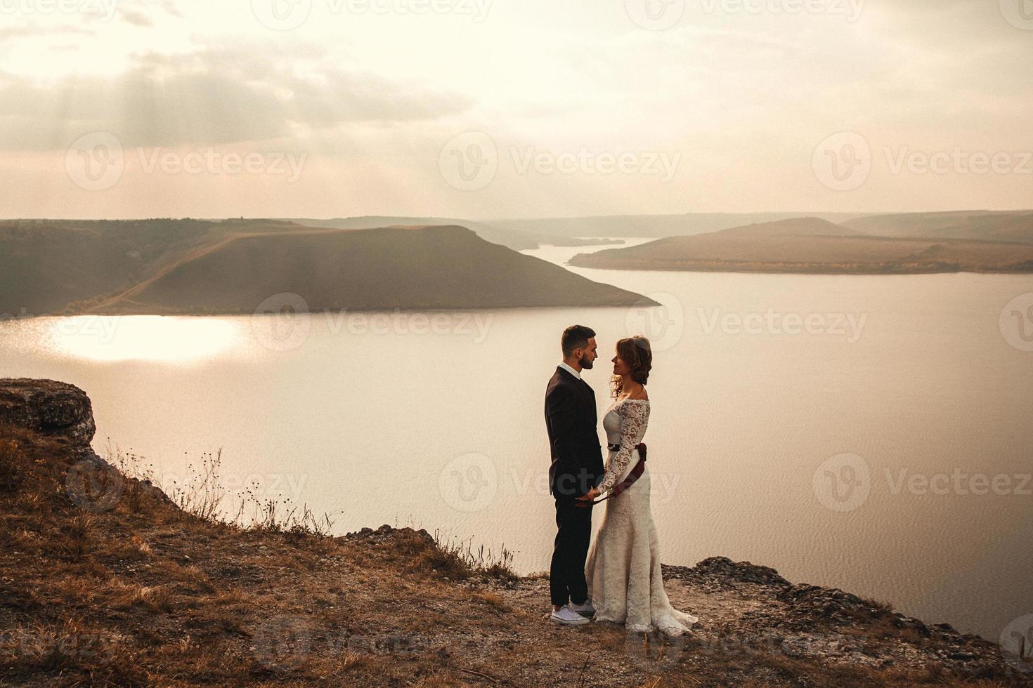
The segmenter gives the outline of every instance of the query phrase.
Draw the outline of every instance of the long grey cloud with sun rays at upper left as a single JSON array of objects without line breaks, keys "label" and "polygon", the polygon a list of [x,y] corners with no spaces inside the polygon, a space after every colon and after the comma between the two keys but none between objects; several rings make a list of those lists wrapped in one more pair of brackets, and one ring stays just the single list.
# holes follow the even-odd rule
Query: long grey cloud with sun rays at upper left
[{"label": "long grey cloud with sun rays at upper left", "polygon": [[341,126],[435,120],[471,106],[465,97],[324,62],[274,59],[257,46],[134,57],[114,77],[49,84],[0,74],[0,149],[60,150],[92,131],[123,145],[215,145],[289,137]]}]

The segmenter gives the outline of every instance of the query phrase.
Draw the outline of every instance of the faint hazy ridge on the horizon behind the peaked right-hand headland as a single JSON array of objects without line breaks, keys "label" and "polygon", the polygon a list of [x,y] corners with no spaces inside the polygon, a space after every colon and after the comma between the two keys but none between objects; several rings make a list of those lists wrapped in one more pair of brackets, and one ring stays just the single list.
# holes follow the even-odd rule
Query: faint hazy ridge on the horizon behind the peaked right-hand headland
[{"label": "faint hazy ridge on the horizon behind the peaked right-hand headland", "polygon": [[494,227],[533,236],[682,236],[731,227],[801,217],[817,217],[841,224],[864,214],[843,212],[686,212],[682,215],[615,215],[540,220],[489,220]]}]

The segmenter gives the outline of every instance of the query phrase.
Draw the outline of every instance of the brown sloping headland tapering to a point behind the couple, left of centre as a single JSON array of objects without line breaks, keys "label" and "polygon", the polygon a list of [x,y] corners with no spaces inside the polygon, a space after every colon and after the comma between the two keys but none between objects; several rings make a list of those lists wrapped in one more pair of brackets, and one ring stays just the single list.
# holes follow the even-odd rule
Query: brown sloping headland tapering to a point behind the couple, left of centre
[{"label": "brown sloping headland tapering to a point behind the couple, left of centre", "polygon": [[229,236],[89,312],[250,314],[282,292],[311,310],[653,303],[464,227],[430,226]]}]

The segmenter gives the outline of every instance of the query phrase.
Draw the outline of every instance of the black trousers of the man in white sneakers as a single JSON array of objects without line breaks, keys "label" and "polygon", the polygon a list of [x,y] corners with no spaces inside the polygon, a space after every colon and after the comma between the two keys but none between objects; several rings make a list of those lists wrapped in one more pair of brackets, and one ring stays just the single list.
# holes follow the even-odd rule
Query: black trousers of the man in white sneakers
[{"label": "black trousers of the man in white sneakers", "polygon": [[570,497],[556,500],[556,545],[550,568],[553,604],[582,604],[588,599],[585,559],[592,538],[592,507],[575,506]]}]

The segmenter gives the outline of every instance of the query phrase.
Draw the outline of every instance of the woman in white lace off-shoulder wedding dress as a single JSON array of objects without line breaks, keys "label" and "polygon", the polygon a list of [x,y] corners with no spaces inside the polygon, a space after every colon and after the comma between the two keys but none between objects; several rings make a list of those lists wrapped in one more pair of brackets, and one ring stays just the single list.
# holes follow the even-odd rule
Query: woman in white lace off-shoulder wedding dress
[{"label": "woman in white lace off-shoulder wedding dress", "polygon": [[[617,342],[614,357],[615,400],[602,419],[609,444],[600,493],[620,484],[638,461],[634,448],[649,424],[650,403],[644,389],[652,367],[649,339]],[[618,449],[615,449],[618,448]],[[631,487],[606,500],[602,524],[585,564],[594,621],[623,623],[633,632],[660,630],[677,636],[698,619],[670,605],[660,571],[660,546],[650,510],[648,465]]]}]

